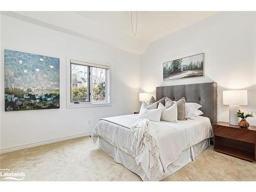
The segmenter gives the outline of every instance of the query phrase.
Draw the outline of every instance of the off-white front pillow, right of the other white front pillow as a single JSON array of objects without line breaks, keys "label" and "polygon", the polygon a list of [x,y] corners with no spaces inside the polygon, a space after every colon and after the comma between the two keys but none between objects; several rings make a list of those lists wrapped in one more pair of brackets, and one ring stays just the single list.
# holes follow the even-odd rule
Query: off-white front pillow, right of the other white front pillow
[{"label": "off-white front pillow, right of the other white front pillow", "polygon": [[174,103],[167,109],[162,103],[159,103],[158,109],[162,110],[161,120],[169,122],[176,122],[178,120],[177,103]]}]

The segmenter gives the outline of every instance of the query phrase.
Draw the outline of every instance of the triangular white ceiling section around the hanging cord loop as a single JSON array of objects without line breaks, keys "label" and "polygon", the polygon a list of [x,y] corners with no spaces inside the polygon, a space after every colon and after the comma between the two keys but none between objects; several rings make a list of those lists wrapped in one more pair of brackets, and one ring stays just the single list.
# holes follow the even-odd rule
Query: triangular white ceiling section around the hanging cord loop
[{"label": "triangular white ceiling section around the hanging cord loop", "polygon": [[[130,11],[77,11],[75,13],[133,36]],[[139,11],[138,32],[135,38],[149,44],[215,13],[212,11]],[[135,29],[136,12],[133,11],[132,15]]]}]

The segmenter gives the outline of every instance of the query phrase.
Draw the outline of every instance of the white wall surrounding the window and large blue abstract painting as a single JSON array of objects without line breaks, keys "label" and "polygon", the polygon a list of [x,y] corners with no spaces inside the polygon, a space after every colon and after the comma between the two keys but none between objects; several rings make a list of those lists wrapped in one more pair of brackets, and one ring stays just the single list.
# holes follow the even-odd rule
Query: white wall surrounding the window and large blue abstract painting
[{"label": "white wall surrounding the window and large blue abstract painting", "polygon": [[[1,150],[89,133],[101,117],[131,114],[139,108],[139,56],[1,15],[1,87],[4,49],[60,58],[60,109],[4,112],[1,97]],[[66,108],[66,56],[111,63],[112,106]],[[4,89],[1,89],[1,96]]]}]

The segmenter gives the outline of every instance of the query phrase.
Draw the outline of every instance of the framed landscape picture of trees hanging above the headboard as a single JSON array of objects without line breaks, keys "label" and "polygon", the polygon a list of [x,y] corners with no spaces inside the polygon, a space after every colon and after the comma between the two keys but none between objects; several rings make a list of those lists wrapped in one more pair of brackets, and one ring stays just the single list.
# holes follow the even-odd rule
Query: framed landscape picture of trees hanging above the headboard
[{"label": "framed landscape picture of trees hanging above the headboard", "polygon": [[163,80],[204,77],[204,53],[163,63]]}]

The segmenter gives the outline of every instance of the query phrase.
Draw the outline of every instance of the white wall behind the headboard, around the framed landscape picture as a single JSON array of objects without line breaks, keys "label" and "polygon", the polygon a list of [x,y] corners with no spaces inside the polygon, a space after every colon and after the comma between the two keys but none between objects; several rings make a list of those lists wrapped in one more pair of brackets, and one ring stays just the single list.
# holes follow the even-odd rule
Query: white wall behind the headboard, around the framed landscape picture
[{"label": "white wall behind the headboard, around the framed landscape picture", "polygon": [[[154,92],[157,86],[216,81],[218,120],[228,122],[228,106],[222,105],[222,91],[248,90],[248,106],[255,100],[255,12],[219,12],[153,42],[140,57],[141,92]],[[166,24],[168,25],[168,24]],[[162,63],[205,52],[205,77],[162,81]],[[256,118],[248,118],[256,124]]]}]

